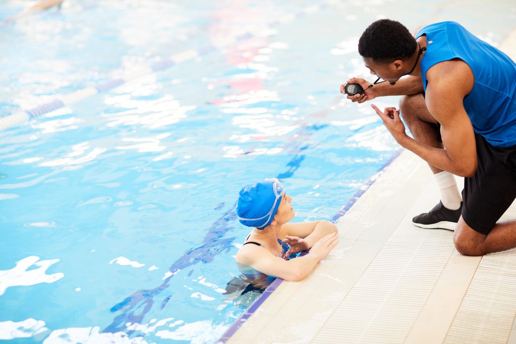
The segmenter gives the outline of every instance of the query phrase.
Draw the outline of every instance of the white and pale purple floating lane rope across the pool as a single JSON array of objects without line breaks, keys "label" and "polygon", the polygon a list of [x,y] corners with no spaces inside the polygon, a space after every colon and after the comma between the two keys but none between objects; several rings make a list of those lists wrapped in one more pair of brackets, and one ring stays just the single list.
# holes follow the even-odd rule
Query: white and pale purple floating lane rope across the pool
[{"label": "white and pale purple floating lane rope across the pool", "polygon": [[[311,6],[305,7],[294,14],[285,15],[283,18],[281,18],[281,20],[270,23],[269,26],[273,27],[273,26],[276,26],[279,24],[285,24],[288,22],[292,22],[296,18],[303,17],[306,14],[316,12],[320,9],[324,9],[328,6],[335,5],[340,2],[341,2],[341,0],[328,0],[321,4],[316,4],[316,5],[311,5]],[[147,75],[147,74],[151,74],[151,73],[154,73],[157,71],[167,69],[169,67],[172,67],[173,65],[195,59],[197,57],[203,56],[205,54],[216,51],[220,48],[237,43],[242,40],[250,39],[253,37],[267,37],[267,36],[271,36],[272,34],[273,34],[273,32],[271,32],[270,30],[263,31],[259,35],[253,35],[252,32],[245,32],[244,34],[239,35],[239,36],[228,37],[227,40],[220,42],[219,44],[216,44],[216,45],[208,44],[197,50],[191,49],[191,50],[186,50],[186,51],[178,53],[178,54],[174,54],[170,58],[153,63],[150,66],[142,66],[138,69],[126,72],[125,76],[123,78],[111,79],[111,80],[105,81],[103,83],[97,84],[95,86],[89,86],[89,87],[85,87],[83,89],[79,89],[79,90],[71,92],[71,93],[63,94],[60,97],[58,97],[57,99],[55,99],[49,103],[39,105],[33,109],[20,110],[20,111],[11,113],[7,116],[1,117],[0,118],[0,131],[5,130],[10,127],[13,127],[13,126],[23,124],[23,123],[28,123],[31,119],[41,116],[42,114],[55,111],[57,109],[65,107],[65,106],[69,106],[69,105],[71,105],[77,101],[83,100],[89,96],[109,91],[111,89],[114,89],[116,87],[119,87],[119,86],[125,84],[127,81],[136,79],[143,75]]]}]

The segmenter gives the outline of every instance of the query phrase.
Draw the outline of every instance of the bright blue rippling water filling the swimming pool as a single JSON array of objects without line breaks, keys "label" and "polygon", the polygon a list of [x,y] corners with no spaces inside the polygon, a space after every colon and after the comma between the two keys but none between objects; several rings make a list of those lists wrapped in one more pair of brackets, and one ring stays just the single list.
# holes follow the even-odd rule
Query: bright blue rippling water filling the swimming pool
[{"label": "bright blue rippling water filling the swimming pool", "polygon": [[[0,20],[32,4],[6,1]],[[330,220],[390,159],[376,115],[338,92],[367,76],[358,37],[460,6],[340,2],[273,24],[313,4],[67,0],[4,22],[0,117],[249,38],[0,132],[0,339],[215,342],[262,291],[238,284],[238,190],[277,176],[296,221]],[[455,20],[502,40],[513,5],[481,6]]]}]

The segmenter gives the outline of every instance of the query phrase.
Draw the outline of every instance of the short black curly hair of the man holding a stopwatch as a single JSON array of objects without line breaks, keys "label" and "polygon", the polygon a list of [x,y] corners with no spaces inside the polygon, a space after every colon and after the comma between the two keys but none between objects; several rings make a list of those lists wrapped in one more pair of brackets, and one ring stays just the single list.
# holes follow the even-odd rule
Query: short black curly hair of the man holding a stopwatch
[{"label": "short black curly hair of the man holding a stopwatch", "polygon": [[380,63],[405,60],[414,55],[417,43],[401,23],[380,19],[369,25],[358,41],[358,52]]}]

